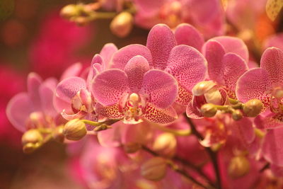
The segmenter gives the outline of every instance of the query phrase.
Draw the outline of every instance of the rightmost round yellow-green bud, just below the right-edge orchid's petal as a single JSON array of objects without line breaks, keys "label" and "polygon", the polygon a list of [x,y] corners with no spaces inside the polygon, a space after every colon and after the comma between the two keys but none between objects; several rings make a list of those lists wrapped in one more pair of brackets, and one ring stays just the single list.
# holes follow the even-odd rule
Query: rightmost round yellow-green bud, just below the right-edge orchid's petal
[{"label": "rightmost round yellow-green bud, just below the right-edge orchid's petal", "polygon": [[243,104],[243,113],[248,117],[255,117],[262,110],[262,102],[258,99],[252,99]]}]

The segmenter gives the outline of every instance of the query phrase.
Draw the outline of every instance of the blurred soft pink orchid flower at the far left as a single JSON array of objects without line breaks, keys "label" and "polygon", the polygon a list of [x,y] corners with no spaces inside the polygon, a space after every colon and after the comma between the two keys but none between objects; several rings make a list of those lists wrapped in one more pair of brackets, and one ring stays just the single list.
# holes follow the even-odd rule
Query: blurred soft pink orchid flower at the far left
[{"label": "blurred soft pink orchid flower at the far left", "polygon": [[55,127],[62,123],[52,103],[57,80],[42,81],[35,73],[28,75],[28,92],[18,93],[9,101],[6,114],[16,129],[25,132],[29,129]]}]

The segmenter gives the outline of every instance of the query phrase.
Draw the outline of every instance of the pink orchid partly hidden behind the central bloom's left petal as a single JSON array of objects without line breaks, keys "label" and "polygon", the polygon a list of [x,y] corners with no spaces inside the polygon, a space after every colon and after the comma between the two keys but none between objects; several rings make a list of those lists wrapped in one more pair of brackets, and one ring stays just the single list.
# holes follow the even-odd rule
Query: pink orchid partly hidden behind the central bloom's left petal
[{"label": "pink orchid partly hidden behind the central bloom's left petal", "polygon": [[[86,117],[98,120],[96,100],[91,94],[91,82],[100,71],[107,69],[112,54],[117,51],[114,44],[106,44],[93,57],[90,69],[81,72],[79,64],[74,64],[62,75],[62,81],[57,85],[54,96],[54,106],[66,120]],[[84,78],[83,78],[84,77]]]}]

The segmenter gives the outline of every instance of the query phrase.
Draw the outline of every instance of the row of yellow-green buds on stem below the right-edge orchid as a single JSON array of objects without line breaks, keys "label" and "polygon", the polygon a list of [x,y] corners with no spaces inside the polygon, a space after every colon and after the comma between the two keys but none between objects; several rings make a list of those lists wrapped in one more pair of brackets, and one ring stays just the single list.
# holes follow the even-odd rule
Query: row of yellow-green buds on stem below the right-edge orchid
[{"label": "row of yellow-green buds on stem below the right-edge orchid", "polygon": [[202,105],[201,112],[204,117],[210,118],[216,115],[218,110],[221,113],[230,113],[233,120],[241,120],[244,116],[254,118],[260,114],[263,105],[258,99],[252,99],[246,103],[241,103],[234,99],[229,99],[230,105],[214,105],[213,103],[207,103]]}]

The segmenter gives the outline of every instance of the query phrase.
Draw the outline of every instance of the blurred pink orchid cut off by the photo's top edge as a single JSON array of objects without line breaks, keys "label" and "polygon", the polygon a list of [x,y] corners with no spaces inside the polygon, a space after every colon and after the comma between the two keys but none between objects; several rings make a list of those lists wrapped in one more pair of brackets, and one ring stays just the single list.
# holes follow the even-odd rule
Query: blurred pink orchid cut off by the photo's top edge
[{"label": "blurred pink orchid cut off by the photo's top edge", "polygon": [[144,28],[165,23],[175,28],[180,23],[190,23],[205,36],[224,33],[224,11],[216,0],[135,0],[137,14],[135,22]]}]

